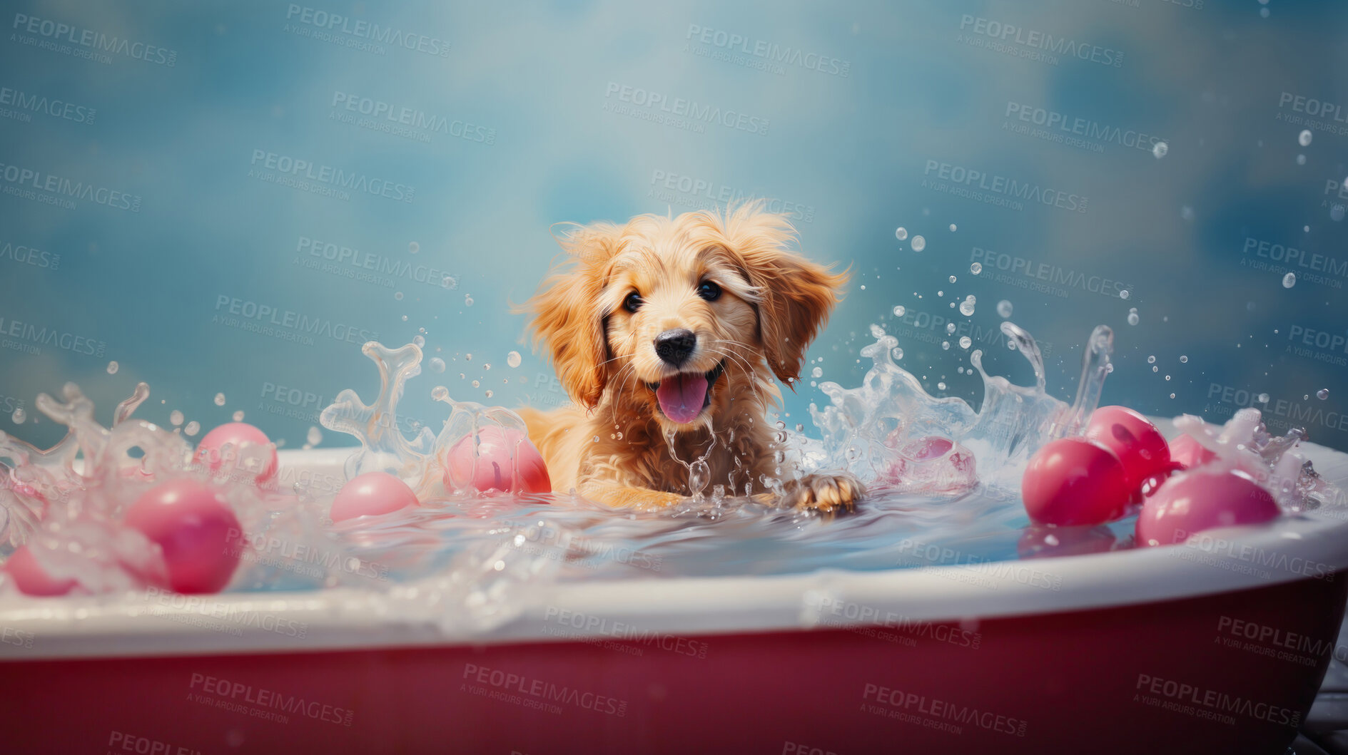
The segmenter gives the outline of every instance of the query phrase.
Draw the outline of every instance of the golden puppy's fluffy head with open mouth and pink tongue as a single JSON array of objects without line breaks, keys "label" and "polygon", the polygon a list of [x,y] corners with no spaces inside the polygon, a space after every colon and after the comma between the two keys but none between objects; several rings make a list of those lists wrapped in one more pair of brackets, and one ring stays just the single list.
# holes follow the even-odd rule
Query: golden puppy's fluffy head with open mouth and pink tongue
[{"label": "golden puppy's fluffy head with open mouth and pink tongue", "polygon": [[559,240],[569,260],[527,305],[535,343],[588,408],[613,386],[666,429],[706,425],[736,377],[770,369],[794,388],[838,300],[847,273],[789,250],[794,238],[760,202],[577,226]]}]

